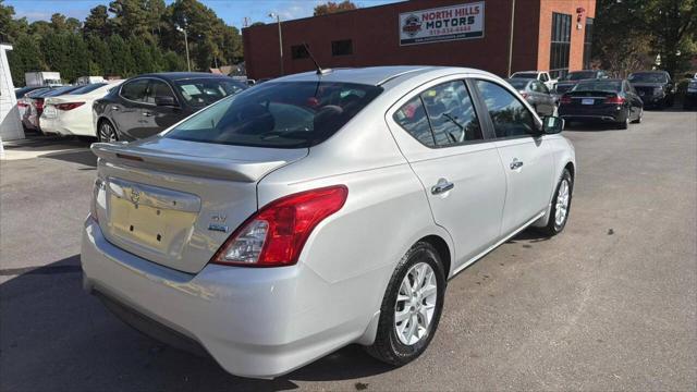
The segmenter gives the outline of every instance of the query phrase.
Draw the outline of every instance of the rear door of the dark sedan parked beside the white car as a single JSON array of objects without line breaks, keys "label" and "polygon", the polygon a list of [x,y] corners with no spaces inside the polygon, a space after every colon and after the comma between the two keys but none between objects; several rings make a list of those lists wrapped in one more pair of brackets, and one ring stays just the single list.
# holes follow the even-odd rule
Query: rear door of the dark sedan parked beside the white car
[{"label": "rear door of the dark sedan parked beside the white car", "polygon": [[114,125],[130,138],[138,138],[147,128],[143,110],[151,107],[146,102],[148,84],[149,79],[145,77],[125,82],[119,90],[117,103],[110,103]]}]

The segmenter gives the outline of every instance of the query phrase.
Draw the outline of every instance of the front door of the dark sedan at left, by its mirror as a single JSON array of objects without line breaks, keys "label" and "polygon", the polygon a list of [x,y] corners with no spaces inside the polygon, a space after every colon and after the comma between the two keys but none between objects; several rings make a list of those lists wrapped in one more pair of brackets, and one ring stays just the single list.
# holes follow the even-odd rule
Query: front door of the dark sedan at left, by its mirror
[{"label": "front door of the dark sedan at left, by its mirror", "polygon": [[[157,106],[157,97],[172,97],[173,106]],[[140,108],[142,125],[135,135],[138,138],[152,136],[183,119],[180,101],[170,85],[158,78],[150,78],[145,102]]]}]

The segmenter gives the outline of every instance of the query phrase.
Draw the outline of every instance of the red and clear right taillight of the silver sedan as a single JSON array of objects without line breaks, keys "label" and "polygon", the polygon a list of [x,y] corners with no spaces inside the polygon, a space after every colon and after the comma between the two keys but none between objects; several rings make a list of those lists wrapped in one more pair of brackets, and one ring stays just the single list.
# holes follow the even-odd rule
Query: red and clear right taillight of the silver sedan
[{"label": "red and clear right taillight of the silver sedan", "polygon": [[232,233],[211,262],[249,267],[294,265],[313,230],[339,211],[347,196],[346,186],[335,185],[271,201]]}]

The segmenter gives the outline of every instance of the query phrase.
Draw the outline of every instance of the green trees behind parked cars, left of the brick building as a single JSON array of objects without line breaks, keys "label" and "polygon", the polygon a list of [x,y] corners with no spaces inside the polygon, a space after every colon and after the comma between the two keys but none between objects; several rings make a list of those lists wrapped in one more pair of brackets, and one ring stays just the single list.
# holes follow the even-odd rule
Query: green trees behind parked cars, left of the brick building
[{"label": "green trees behind parked cars, left of the brick building", "polygon": [[[107,0],[105,0],[107,1]],[[0,0],[0,40],[9,41],[12,79],[24,73],[58,71],[66,82],[84,75],[130,77],[140,73],[186,71],[185,28],[192,71],[243,60],[242,37],[198,0],[111,0],[93,8],[84,21],[54,13],[27,23]]]}]

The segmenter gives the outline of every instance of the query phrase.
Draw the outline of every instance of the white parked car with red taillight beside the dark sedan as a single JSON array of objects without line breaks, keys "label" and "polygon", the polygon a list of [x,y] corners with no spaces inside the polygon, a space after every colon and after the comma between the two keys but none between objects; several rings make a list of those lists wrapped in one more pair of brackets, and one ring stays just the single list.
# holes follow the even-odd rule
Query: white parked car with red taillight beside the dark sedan
[{"label": "white parked car with red taillight beside the dark sedan", "polygon": [[41,131],[88,139],[97,137],[91,105],[110,89],[118,88],[122,82],[88,84],[70,94],[47,97],[44,99],[44,112],[40,117]]}]

